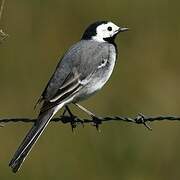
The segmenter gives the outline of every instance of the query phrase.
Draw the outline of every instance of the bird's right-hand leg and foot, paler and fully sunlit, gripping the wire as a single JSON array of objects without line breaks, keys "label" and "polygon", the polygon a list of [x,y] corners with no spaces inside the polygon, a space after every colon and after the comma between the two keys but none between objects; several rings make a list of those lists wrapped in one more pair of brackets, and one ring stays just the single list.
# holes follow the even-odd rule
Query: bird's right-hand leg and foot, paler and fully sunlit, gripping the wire
[{"label": "bird's right-hand leg and foot, paler and fully sunlit, gripping the wire", "polygon": [[87,113],[89,116],[91,116],[92,120],[93,120],[93,125],[96,127],[96,129],[100,132],[99,129],[99,125],[102,123],[101,121],[101,117],[97,117],[94,113],[90,112],[89,110],[87,110],[85,107],[81,106],[80,104],[75,103],[75,105],[80,108],[82,111],[84,111],[85,113]]}]

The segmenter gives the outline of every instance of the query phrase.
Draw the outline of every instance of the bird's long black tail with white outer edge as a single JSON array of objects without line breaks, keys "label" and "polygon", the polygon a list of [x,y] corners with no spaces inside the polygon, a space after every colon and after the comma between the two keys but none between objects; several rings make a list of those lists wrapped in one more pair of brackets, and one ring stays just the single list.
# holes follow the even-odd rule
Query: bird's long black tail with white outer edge
[{"label": "bird's long black tail with white outer edge", "polygon": [[30,129],[9,163],[9,166],[12,168],[13,172],[17,172],[20,169],[25,158],[48,125],[55,111],[56,108],[54,107],[39,115],[38,120]]}]

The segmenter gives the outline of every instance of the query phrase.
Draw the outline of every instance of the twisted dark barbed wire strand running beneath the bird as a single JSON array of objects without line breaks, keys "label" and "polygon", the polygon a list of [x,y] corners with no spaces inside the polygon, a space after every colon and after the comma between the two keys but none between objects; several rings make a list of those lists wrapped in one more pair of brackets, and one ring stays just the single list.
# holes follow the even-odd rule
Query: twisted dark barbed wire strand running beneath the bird
[{"label": "twisted dark barbed wire strand running beneath the bird", "polygon": [[[37,119],[30,119],[30,118],[7,118],[7,119],[0,119],[0,126],[4,127],[6,123],[34,123]],[[92,119],[80,119],[77,116],[60,116],[59,118],[51,119],[51,122],[61,122],[64,124],[70,123],[72,126],[72,130],[79,124],[92,124],[94,125],[97,130],[99,130],[99,125],[109,121],[123,121],[128,123],[134,124],[141,124],[144,125],[148,130],[152,130],[152,128],[147,124],[148,122],[154,121],[180,121],[179,116],[145,116],[142,113],[139,113],[136,117],[123,117],[123,116],[108,116],[108,117],[94,117]]]}]

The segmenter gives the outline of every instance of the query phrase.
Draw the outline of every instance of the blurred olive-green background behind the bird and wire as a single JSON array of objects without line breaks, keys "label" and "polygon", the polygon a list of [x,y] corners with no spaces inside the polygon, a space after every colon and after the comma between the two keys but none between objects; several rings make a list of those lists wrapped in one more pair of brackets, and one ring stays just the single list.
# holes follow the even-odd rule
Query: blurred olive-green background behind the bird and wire
[{"label": "blurred olive-green background behind the bird and wire", "polygon": [[[101,19],[131,31],[116,40],[120,58],[110,82],[82,105],[101,116],[179,115],[179,6],[178,0],[6,0],[0,118],[35,118],[33,106],[59,57]],[[31,124],[8,124],[0,129],[0,179],[180,179],[179,122],[151,126],[152,132],[113,122],[101,133],[87,125],[73,134],[69,125],[51,123],[15,175],[8,162]]]}]

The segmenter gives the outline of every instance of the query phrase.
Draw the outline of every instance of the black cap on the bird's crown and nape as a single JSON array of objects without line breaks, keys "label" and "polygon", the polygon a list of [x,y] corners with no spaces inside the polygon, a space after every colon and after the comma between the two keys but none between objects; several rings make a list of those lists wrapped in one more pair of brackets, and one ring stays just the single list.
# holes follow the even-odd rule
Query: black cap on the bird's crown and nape
[{"label": "black cap on the bird's crown and nape", "polygon": [[88,40],[96,35],[96,28],[101,24],[107,24],[108,21],[96,21],[95,23],[89,25],[85,30],[81,39]]}]

